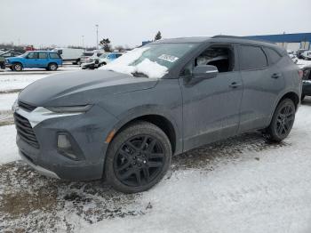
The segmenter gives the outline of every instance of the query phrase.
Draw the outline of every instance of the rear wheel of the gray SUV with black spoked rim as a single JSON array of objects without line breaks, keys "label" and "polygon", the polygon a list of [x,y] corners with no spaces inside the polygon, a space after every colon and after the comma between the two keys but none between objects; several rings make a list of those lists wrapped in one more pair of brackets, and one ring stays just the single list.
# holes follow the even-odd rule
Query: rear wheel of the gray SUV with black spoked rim
[{"label": "rear wheel of the gray SUV with black spoked rim", "polygon": [[282,100],[275,108],[270,125],[265,131],[268,141],[280,142],[291,132],[295,121],[296,108],[291,99]]}]

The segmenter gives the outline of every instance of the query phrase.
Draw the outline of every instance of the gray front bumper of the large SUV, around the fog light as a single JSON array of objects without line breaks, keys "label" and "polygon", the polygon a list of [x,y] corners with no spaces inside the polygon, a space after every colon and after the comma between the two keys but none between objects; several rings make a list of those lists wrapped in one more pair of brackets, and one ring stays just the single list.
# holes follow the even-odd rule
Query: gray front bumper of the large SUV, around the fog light
[{"label": "gray front bumper of the large SUV, around the fog light", "polygon": [[[34,110],[35,111],[35,110]],[[17,110],[17,114],[23,114]],[[105,142],[116,117],[100,107],[93,106],[84,114],[40,118],[32,112],[24,114],[36,134],[39,147],[30,145],[17,135],[20,157],[38,173],[70,181],[97,180],[103,176],[108,144]],[[76,160],[65,157],[57,147],[59,133],[68,133],[78,151]]]}]

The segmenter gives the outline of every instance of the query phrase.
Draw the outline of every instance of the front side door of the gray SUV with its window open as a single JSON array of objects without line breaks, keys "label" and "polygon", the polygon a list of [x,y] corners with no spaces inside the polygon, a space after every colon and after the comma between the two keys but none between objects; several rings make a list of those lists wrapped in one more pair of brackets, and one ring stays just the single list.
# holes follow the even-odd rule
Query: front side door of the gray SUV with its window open
[{"label": "front side door of the gray SUV with its window open", "polygon": [[[184,150],[233,136],[239,126],[243,84],[235,48],[214,44],[191,61],[179,78],[183,96]],[[191,68],[213,65],[218,76],[195,82]]]}]

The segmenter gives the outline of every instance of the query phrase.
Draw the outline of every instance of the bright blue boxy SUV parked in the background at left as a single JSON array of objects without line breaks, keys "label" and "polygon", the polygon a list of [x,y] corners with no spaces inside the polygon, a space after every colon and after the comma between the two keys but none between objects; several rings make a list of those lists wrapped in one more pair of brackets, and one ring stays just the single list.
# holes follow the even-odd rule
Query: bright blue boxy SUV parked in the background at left
[{"label": "bright blue boxy SUV parked in the background at left", "polygon": [[19,57],[6,59],[6,66],[15,71],[23,68],[46,68],[55,71],[61,65],[60,55],[52,51],[25,52]]}]

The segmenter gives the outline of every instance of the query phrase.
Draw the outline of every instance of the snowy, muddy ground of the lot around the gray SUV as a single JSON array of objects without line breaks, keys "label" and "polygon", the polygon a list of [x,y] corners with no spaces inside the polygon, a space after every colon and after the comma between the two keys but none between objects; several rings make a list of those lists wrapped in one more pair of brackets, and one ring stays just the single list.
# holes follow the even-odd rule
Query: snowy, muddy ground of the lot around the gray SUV
[{"label": "snowy, muddy ground of the lot around the gray SUV", "polygon": [[[13,94],[0,94],[0,113],[6,114],[0,124],[12,115],[7,102]],[[311,232],[308,116],[310,98],[281,144],[248,133],[173,157],[163,181],[135,195],[100,181],[59,181],[33,172],[19,160],[14,126],[3,124],[0,232]]]}]

